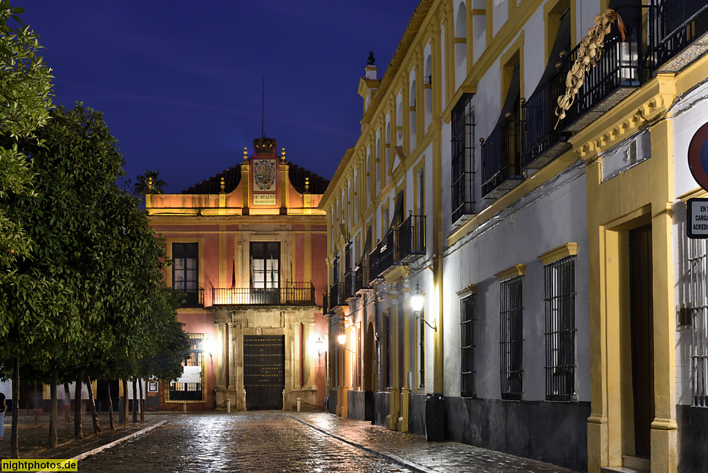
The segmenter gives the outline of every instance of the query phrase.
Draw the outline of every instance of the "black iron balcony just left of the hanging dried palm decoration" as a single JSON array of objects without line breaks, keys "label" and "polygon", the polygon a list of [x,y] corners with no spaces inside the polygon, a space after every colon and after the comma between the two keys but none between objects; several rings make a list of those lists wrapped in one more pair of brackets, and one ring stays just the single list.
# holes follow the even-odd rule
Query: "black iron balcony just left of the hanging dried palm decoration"
[{"label": "black iron balcony just left of the hanging dried palm decoration", "polygon": [[523,169],[541,169],[571,149],[569,132],[556,128],[555,110],[559,96],[566,93],[565,76],[554,74],[545,84],[540,84],[521,106],[523,116]]}]

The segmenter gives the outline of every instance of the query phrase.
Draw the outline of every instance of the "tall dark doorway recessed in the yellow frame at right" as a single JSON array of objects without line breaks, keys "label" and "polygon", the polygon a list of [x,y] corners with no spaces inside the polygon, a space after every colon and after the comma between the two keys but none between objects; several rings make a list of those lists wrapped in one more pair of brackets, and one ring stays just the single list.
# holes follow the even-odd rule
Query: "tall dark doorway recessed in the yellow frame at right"
[{"label": "tall dark doorway recessed in the yellow frame at right", "polygon": [[635,455],[651,454],[654,419],[651,225],[629,231],[629,315],[632,334],[632,397]]}]

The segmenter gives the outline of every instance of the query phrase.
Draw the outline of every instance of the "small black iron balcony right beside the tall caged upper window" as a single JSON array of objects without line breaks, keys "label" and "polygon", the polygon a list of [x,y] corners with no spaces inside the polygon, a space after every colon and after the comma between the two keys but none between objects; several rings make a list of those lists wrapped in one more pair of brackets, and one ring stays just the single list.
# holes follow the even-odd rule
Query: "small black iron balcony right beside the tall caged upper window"
[{"label": "small black iron balcony right beside the tall caged upper window", "polygon": [[520,120],[504,120],[482,143],[482,195],[496,199],[523,180]]}]

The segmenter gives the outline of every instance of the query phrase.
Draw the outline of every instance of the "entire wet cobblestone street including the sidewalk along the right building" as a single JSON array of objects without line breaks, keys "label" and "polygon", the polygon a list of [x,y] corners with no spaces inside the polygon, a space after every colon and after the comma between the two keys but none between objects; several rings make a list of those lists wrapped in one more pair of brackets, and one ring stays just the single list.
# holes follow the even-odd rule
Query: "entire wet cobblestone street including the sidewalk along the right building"
[{"label": "entire wet cobblestone street including the sidewalk along the right building", "polygon": [[324,413],[156,415],[153,431],[86,458],[86,472],[568,472]]}]

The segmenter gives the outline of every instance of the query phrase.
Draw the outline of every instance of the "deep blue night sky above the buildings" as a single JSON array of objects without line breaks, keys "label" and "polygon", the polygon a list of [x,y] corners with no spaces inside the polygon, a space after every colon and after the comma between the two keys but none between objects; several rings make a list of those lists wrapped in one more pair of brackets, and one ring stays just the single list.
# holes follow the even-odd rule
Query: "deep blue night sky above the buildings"
[{"label": "deep blue night sky above the buildings", "polygon": [[101,110],[127,177],[157,170],[176,193],[265,135],[333,176],[360,132],[369,50],[384,73],[416,0],[28,1],[55,103]]}]

